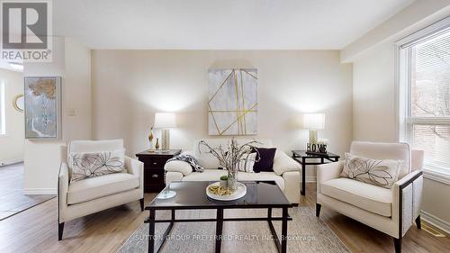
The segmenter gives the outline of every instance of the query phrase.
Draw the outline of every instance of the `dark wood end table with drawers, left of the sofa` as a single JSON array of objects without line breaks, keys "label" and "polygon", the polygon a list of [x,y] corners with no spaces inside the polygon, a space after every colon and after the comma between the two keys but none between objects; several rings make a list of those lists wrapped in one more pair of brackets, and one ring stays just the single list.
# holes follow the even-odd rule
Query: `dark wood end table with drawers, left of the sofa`
[{"label": "dark wood end table with drawers, left of the sofa", "polygon": [[164,182],[164,165],[166,161],[181,153],[181,149],[170,149],[165,152],[146,150],[136,154],[139,161],[144,163],[144,193],[159,193]]}]

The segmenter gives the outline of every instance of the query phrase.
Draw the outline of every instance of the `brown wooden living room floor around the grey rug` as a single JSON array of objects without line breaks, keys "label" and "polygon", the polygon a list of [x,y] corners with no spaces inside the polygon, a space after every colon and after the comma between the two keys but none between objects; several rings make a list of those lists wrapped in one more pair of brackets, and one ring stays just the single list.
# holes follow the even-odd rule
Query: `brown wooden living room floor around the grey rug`
[{"label": "brown wooden living room floor around the grey rug", "polygon": [[[308,184],[300,204],[315,208],[315,194],[315,184]],[[146,203],[154,196],[146,194]],[[51,199],[0,221],[0,252],[116,252],[147,216],[139,202],[129,203],[66,222],[63,240],[58,241],[56,206]],[[364,224],[325,207],[320,218],[353,252],[394,252],[391,237]],[[403,252],[450,252],[450,239],[411,227]]]}]

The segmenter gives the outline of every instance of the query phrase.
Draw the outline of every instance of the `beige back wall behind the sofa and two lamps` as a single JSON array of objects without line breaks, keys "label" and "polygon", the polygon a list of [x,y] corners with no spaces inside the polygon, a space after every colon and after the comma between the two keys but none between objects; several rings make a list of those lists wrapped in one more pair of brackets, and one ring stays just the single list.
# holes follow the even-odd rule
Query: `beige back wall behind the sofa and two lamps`
[{"label": "beige back wall behind the sofa and two lamps", "polygon": [[304,149],[302,113],[323,112],[320,137],[339,154],[349,149],[352,71],[333,50],[93,50],[94,139],[123,138],[134,155],[148,149],[154,113],[169,111],[172,147],[193,149],[208,135],[208,68],[258,69],[258,137],[289,154]]}]

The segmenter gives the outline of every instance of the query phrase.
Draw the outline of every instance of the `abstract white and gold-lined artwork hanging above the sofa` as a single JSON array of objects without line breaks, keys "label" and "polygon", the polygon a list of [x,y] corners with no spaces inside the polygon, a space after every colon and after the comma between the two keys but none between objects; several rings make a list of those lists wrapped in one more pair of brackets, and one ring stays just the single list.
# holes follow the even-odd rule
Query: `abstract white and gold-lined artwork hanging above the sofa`
[{"label": "abstract white and gold-lined artwork hanging above the sofa", "polygon": [[257,134],[257,69],[209,69],[210,135]]}]

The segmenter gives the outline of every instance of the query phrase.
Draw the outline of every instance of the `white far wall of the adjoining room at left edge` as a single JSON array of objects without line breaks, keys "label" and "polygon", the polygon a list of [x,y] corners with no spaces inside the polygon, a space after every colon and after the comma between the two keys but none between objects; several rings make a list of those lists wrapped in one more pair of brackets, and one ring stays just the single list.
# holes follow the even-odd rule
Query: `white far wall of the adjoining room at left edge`
[{"label": "white far wall of the adjoining room at left edge", "polygon": [[6,135],[0,135],[0,164],[23,161],[23,113],[14,109],[16,95],[23,95],[23,74],[0,69],[0,83],[4,83]]}]

